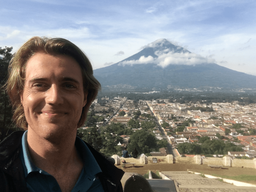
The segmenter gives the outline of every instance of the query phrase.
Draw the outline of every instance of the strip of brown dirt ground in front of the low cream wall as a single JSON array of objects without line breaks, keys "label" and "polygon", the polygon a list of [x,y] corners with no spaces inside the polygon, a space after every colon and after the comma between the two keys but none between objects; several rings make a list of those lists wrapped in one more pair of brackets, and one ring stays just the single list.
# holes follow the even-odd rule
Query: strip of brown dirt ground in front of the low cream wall
[{"label": "strip of brown dirt ground in front of the low cream wall", "polygon": [[[256,169],[251,168],[240,168],[240,167],[225,167],[220,168],[210,168],[208,165],[197,165],[197,164],[186,164],[186,163],[174,163],[174,164],[136,164],[135,167],[127,166],[123,168],[122,165],[117,166],[123,169],[124,172],[135,172],[144,175],[149,170],[150,171],[193,171],[200,172],[207,175],[226,175],[226,176],[238,176],[238,175],[256,175]],[[249,183],[256,184],[256,181],[248,181]]]}]

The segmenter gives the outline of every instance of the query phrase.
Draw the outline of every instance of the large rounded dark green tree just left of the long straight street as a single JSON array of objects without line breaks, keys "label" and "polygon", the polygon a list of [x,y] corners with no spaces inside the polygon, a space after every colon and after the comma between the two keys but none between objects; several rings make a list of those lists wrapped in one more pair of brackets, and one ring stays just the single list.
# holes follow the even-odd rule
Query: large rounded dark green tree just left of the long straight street
[{"label": "large rounded dark green tree just left of the long straight street", "polygon": [[152,149],[156,148],[156,138],[152,134],[144,131],[137,130],[130,136],[128,145],[128,151],[132,151],[134,148],[137,149],[138,153],[150,153]]}]

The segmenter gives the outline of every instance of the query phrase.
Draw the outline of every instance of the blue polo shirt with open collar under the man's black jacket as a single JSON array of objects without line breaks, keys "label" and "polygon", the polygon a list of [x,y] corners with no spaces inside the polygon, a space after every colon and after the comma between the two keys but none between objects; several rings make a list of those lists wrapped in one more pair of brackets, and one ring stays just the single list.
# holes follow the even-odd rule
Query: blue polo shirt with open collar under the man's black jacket
[{"label": "blue polo shirt with open collar under the man's black jacket", "polygon": [[[83,161],[83,169],[80,173],[78,181],[76,182],[71,192],[104,191],[100,180],[96,176],[97,173],[101,172],[101,168],[93,157],[91,151],[85,145],[83,140],[81,140],[79,137],[76,137],[75,145],[80,146],[79,148],[82,149],[78,152]],[[28,191],[61,192],[61,188],[56,179],[49,173],[34,165],[28,150],[27,131],[25,131],[22,136],[22,149],[20,158],[24,167]]]}]

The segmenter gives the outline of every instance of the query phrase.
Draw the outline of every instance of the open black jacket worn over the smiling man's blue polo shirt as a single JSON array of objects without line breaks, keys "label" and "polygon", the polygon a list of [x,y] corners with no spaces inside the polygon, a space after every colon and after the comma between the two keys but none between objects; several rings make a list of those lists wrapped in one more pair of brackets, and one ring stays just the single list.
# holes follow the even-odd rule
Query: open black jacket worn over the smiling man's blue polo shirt
[{"label": "open black jacket worn over the smiling man's blue polo shirt", "polygon": [[[23,166],[20,160],[21,140],[24,131],[13,132],[0,143],[0,191],[26,192],[26,182]],[[105,191],[123,191],[121,179],[124,171],[115,167],[100,153],[85,142],[102,173],[99,179]]]}]

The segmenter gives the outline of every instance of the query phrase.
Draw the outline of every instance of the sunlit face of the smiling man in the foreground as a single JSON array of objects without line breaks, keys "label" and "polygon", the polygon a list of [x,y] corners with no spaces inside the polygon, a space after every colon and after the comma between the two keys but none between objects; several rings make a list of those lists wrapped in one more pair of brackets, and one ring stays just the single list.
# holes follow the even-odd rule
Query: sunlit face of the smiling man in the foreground
[{"label": "sunlit face of the smiling man in the foreground", "polygon": [[70,56],[36,53],[26,64],[20,97],[30,133],[49,140],[76,132],[87,102],[79,64]]}]

